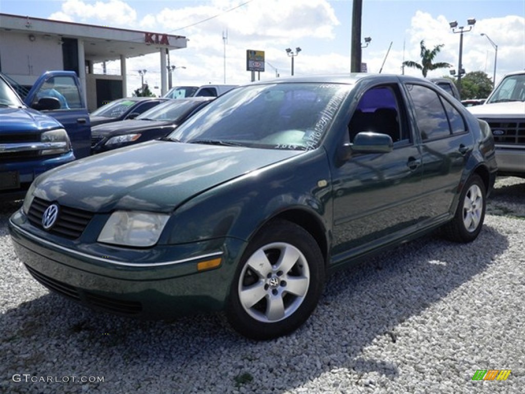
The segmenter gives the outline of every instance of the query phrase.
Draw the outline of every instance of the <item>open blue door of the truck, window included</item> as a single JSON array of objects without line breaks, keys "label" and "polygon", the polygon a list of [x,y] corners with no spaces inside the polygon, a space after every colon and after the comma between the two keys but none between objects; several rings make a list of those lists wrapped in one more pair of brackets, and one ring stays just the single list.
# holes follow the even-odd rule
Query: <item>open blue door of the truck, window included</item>
[{"label": "open blue door of the truck, window included", "polygon": [[86,102],[80,88],[80,81],[74,71],[48,71],[35,82],[25,103],[37,107],[42,97],[58,98],[59,109],[42,110],[57,119],[66,129],[75,157],[86,157],[91,151],[91,127]]}]

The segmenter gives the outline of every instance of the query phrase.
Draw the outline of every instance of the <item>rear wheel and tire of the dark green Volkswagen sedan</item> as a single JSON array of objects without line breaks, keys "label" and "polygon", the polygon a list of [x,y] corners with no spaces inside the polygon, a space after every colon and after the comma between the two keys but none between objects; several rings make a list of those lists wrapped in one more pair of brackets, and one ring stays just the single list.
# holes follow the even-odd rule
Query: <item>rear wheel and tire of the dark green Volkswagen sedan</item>
[{"label": "rear wheel and tire of the dark green Volkswagen sedan", "polygon": [[443,227],[445,237],[455,242],[474,241],[485,219],[486,204],[485,184],[473,174],[461,191],[454,219]]}]

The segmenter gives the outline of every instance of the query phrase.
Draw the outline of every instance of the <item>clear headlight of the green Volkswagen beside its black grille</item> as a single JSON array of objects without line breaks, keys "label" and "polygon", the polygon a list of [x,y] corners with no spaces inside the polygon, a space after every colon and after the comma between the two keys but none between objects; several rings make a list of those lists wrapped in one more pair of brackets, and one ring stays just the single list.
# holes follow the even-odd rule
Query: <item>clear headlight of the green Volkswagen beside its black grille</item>
[{"label": "clear headlight of the green Volkswagen beside its black grille", "polygon": [[169,217],[149,212],[113,212],[97,241],[125,246],[152,246],[159,240]]}]

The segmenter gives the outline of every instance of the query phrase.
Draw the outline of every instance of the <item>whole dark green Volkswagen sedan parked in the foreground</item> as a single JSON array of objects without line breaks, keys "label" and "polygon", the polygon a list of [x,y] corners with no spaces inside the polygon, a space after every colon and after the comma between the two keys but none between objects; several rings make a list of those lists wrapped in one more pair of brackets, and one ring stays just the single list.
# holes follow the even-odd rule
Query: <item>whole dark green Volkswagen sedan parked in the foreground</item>
[{"label": "whole dark green Volkswagen sedan parked in the foreground", "polygon": [[470,242],[497,170],[486,122],[432,82],[257,82],[162,140],[38,177],[9,230],[37,281],[141,318],[224,310],[270,339],[337,268],[436,229]]}]

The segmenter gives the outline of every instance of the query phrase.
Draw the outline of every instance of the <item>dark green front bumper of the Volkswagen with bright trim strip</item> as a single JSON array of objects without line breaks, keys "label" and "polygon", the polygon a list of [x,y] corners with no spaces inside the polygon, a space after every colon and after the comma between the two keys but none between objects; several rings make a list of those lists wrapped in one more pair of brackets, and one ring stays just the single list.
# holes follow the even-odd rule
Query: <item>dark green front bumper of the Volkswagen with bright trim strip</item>
[{"label": "dark green front bumper of the Volkswagen with bright trim strip", "polygon": [[[223,309],[245,246],[234,239],[156,246],[141,251],[140,263],[134,263],[123,258],[122,248],[103,256],[104,245],[58,245],[29,232],[22,217],[12,216],[9,232],[17,256],[38,282],[93,309],[144,319]],[[199,262],[217,257],[219,267],[198,271]]]}]

